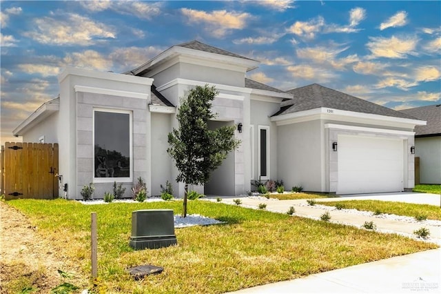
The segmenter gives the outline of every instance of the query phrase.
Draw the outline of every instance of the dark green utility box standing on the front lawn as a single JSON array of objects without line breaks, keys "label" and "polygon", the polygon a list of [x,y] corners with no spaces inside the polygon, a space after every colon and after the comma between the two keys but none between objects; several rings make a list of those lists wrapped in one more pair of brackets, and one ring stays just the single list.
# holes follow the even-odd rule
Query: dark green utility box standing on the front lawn
[{"label": "dark green utility box standing on the front lawn", "polygon": [[171,209],[143,209],[132,212],[130,246],[135,250],[175,245],[174,218]]}]

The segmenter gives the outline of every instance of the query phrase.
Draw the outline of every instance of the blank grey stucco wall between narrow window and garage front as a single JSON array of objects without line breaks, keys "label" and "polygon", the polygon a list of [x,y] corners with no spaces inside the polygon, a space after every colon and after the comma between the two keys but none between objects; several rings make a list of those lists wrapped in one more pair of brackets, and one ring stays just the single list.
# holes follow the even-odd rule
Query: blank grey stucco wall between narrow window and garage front
[{"label": "blank grey stucco wall between narrow window and garage front", "polygon": [[285,188],[322,191],[320,121],[278,127],[278,175]]}]

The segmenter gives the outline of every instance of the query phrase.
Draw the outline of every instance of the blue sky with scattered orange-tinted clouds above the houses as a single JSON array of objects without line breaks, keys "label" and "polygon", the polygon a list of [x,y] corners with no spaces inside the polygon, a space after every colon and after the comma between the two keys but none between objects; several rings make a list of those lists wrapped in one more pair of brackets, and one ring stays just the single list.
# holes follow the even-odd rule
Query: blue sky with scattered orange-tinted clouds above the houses
[{"label": "blue sky with scattered orange-tinted clouds above the houses", "polygon": [[125,72],[194,39],[396,110],[441,103],[441,1],[0,1],[1,144],[65,66]]}]

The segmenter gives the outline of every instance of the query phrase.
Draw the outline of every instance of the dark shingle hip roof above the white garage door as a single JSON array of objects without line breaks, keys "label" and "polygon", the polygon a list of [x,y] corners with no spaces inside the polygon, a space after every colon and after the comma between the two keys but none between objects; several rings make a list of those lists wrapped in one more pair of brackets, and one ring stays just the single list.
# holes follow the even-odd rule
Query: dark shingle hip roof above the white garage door
[{"label": "dark shingle hip roof above the white garage door", "polygon": [[280,110],[273,116],[326,107],[387,117],[415,119],[415,117],[392,110],[391,108],[380,106],[318,84],[288,90],[287,92],[294,95],[294,99],[283,101],[280,104]]}]

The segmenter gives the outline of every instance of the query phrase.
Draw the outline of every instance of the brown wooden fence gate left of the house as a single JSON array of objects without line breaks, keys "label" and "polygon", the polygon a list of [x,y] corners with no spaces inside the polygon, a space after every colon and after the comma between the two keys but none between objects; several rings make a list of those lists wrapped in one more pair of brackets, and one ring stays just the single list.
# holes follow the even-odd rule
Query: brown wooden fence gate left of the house
[{"label": "brown wooden fence gate left of the house", "polygon": [[6,199],[58,197],[58,144],[1,146],[1,194]]}]

